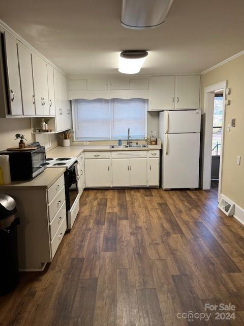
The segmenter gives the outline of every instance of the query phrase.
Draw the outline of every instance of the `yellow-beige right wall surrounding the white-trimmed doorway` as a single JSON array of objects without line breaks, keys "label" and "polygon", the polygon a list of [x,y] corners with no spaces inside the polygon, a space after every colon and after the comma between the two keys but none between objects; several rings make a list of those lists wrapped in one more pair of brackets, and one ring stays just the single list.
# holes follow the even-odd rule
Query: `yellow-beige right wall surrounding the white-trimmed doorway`
[{"label": "yellow-beige right wall surrounding the white-trimmed doorway", "polygon": [[[231,94],[227,99],[231,105],[226,106],[223,148],[222,194],[244,208],[244,56],[202,75],[201,107],[204,101],[204,88],[227,80]],[[227,124],[236,118],[235,128],[227,131]],[[236,164],[237,155],[241,156],[241,165]]]}]

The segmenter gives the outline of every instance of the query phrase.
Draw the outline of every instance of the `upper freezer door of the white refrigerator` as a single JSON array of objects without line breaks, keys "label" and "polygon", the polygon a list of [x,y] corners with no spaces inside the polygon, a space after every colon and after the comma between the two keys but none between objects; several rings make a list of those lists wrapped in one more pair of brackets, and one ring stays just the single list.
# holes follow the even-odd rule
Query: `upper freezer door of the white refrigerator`
[{"label": "upper freezer door of the white refrigerator", "polygon": [[165,111],[164,129],[168,133],[200,132],[201,110]]}]

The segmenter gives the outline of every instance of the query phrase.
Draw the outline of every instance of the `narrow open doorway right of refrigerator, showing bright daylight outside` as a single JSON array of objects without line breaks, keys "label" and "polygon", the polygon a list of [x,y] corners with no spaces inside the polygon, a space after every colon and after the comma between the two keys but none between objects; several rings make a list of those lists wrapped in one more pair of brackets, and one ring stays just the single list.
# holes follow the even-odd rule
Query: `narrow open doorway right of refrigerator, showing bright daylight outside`
[{"label": "narrow open doorway right of refrigerator, showing bright daylight outside", "polygon": [[211,188],[219,187],[220,155],[223,124],[223,89],[215,91],[214,115],[212,121],[212,163]]}]

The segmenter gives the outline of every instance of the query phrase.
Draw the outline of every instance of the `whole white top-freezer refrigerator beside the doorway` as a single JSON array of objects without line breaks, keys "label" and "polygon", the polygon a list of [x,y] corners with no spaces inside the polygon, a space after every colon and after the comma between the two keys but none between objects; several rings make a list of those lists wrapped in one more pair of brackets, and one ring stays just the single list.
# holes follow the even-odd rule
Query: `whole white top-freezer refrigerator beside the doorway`
[{"label": "whole white top-freezer refrigerator beside the doorway", "polygon": [[163,189],[198,188],[201,110],[160,113]]}]

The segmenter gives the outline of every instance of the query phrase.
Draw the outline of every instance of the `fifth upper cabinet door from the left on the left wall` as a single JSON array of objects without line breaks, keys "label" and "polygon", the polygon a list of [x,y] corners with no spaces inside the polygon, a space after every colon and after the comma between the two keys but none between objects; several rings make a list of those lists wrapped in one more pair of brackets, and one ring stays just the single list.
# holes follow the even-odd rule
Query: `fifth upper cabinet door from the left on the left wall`
[{"label": "fifth upper cabinet door from the left on the left wall", "polygon": [[61,99],[61,77],[60,72],[54,69],[54,95],[55,95],[55,111],[56,111],[56,131],[64,130],[64,110],[62,109]]}]

